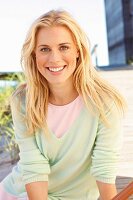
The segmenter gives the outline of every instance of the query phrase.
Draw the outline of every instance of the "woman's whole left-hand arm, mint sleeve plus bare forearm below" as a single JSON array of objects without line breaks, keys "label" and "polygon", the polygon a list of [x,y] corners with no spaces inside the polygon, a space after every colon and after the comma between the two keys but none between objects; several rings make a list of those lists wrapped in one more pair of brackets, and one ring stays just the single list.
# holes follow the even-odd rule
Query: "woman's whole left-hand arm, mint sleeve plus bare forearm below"
[{"label": "woman's whole left-hand arm, mint sleeve plus bare forearm below", "polygon": [[22,177],[22,186],[26,186],[29,200],[46,200],[50,174],[49,158],[37,143],[37,140],[41,143],[40,133],[36,132],[33,135],[27,133],[24,94],[13,97],[11,111],[15,138],[20,150],[19,173]]}]

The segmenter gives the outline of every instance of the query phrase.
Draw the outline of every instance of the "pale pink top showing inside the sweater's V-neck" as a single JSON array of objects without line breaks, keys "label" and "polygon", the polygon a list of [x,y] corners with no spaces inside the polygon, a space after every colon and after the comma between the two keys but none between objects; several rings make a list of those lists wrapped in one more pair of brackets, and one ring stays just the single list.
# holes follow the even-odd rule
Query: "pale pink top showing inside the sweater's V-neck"
[{"label": "pale pink top showing inside the sweater's V-neck", "polygon": [[64,106],[49,104],[47,123],[53,134],[58,138],[62,137],[71,127],[82,107],[83,100],[81,96]]}]

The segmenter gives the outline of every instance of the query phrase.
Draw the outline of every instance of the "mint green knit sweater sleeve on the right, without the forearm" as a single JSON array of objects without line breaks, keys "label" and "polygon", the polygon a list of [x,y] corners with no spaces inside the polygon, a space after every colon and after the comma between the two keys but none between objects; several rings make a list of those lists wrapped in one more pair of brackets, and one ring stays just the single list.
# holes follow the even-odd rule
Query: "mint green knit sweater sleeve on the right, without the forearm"
[{"label": "mint green knit sweater sleeve on the right, without the forearm", "polygon": [[106,116],[110,126],[99,119],[90,172],[96,180],[114,184],[122,146],[122,120],[114,103]]}]

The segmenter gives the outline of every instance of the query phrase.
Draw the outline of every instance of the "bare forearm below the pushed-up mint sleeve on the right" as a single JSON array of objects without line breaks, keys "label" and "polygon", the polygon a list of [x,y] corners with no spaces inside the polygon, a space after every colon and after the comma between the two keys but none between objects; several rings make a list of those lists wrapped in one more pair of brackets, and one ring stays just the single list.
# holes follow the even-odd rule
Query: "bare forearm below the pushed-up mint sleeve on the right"
[{"label": "bare forearm below the pushed-up mint sleeve on the right", "polygon": [[97,186],[100,193],[100,200],[111,200],[117,194],[115,184],[97,181]]}]

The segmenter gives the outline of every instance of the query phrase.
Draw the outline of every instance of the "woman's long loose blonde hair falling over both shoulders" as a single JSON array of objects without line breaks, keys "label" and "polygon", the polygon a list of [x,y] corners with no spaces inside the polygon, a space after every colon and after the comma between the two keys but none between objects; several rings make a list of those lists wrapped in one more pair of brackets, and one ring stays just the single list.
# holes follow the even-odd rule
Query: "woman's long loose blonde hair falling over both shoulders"
[{"label": "woman's long loose blonde hair falling over both shoulders", "polygon": [[46,116],[49,101],[49,87],[47,80],[36,67],[34,49],[36,35],[41,27],[62,25],[72,33],[79,50],[79,59],[73,74],[73,83],[77,92],[82,95],[88,109],[95,107],[103,122],[107,123],[105,107],[112,99],[120,111],[124,110],[125,102],[118,91],[102,79],[91,63],[89,42],[86,34],[71,17],[62,10],[52,10],[39,17],[31,26],[22,48],[22,66],[26,77],[26,122],[28,132],[33,133],[38,128],[46,129]]}]

